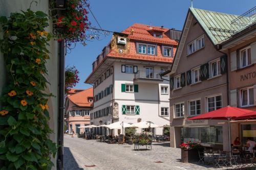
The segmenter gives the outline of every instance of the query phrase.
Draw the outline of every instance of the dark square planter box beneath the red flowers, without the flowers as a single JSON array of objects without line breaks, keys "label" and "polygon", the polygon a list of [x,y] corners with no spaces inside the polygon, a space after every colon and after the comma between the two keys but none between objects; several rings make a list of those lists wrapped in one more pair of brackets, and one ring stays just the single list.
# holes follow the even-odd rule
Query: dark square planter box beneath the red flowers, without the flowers
[{"label": "dark square planter box beneath the red flowers, without the flowers", "polygon": [[198,160],[198,150],[181,150],[181,162],[197,162]]}]

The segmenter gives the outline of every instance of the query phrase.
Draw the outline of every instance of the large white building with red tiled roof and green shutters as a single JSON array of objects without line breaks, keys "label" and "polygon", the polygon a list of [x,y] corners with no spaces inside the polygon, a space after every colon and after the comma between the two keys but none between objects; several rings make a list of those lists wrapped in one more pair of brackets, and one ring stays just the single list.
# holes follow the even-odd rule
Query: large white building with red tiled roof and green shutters
[{"label": "large white building with red tiled roof and green shutters", "polygon": [[[91,124],[151,121],[169,125],[169,82],[159,74],[172,65],[180,34],[175,29],[139,23],[113,34],[85,82],[94,85]],[[101,127],[95,133],[106,131]],[[163,128],[152,131],[163,134]],[[116,135],[117,130],[111,133]]]}]

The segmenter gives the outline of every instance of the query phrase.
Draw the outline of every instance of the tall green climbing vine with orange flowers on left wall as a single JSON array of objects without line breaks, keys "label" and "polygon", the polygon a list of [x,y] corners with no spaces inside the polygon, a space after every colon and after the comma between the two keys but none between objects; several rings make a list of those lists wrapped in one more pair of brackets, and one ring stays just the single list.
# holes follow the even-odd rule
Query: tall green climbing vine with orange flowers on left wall
[{"label": "tall green climbing vine with orange flowers on left wall", "polygon": [[0,17],[4,33],[0,50],[5,57],[8,86],[0,100],[1,169],[51,169],[56,144],[48,139],[46,59],[51,34],[45,31],[48,17],[30,9]]}]

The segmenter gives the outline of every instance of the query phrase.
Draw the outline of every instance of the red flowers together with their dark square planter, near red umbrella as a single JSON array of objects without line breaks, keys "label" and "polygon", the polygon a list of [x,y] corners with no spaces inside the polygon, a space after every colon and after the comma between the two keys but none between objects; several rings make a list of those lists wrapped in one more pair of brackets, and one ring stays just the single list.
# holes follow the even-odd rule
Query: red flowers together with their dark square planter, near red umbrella
[{"label": "red flowers together with their dark square planter, near red umbrella", "polygon": [[181,162],[195,162],[199,160],[199,153],[198,151],[202,151],[203,147],[199,143],[182,143],[180,144],[181,148]]}]

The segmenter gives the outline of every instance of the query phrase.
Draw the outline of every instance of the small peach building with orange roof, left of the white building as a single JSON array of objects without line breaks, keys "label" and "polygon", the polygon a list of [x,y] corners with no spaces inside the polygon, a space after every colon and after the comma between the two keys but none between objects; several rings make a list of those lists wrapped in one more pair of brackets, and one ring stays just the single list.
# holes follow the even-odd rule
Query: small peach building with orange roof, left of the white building
[{"label": "small peach building with orange roof, left of the white building", "polygon": [[90,111],[93,108],[93,88],[86,90],[71,89],[66,99],[65,122],[67,130],[71,133],[83,132],[80,126],[90,125]]}]

